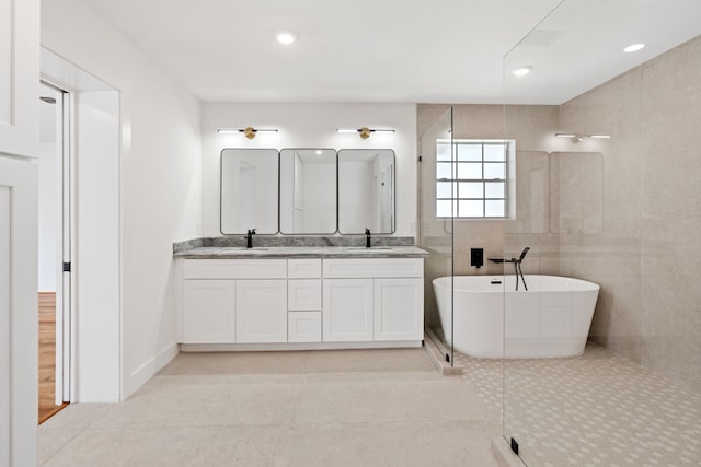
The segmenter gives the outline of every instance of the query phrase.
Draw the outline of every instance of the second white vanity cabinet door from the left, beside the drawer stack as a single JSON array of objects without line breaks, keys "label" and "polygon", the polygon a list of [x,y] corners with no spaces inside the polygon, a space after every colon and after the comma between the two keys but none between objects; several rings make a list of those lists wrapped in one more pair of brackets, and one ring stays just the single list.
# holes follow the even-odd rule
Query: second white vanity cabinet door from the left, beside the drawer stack
[{"label": "second white vanity cabinet door from the left, beside the drawer stack", "polygon": [[287,281],[237,281],[237,342],[287,342]]}]

